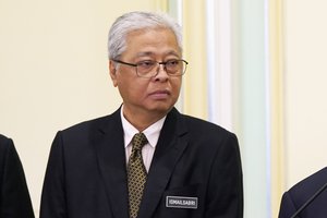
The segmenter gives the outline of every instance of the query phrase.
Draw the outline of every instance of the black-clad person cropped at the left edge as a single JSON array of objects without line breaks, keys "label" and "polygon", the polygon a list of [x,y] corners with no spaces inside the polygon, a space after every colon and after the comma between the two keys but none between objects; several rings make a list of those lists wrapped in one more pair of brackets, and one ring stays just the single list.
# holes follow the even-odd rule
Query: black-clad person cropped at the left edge
[{"label": "black-clad person cropped at the left edge", "polygon": [[0,217],[34,217],[20,157],[12,140],[3,135],[0,135]]}]

